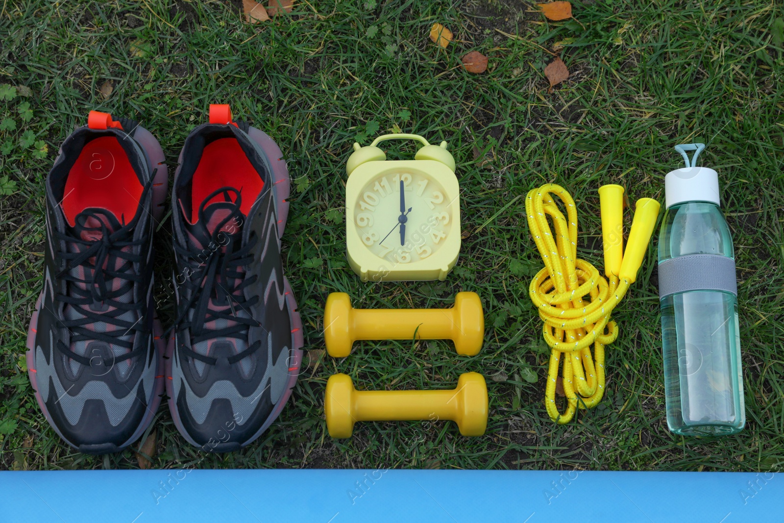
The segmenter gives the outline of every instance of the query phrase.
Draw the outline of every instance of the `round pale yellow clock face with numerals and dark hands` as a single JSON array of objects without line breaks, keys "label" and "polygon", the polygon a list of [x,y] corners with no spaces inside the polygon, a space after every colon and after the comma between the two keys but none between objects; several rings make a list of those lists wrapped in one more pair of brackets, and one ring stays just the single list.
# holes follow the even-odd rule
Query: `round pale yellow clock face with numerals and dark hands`
[{"label": "round pale yellow clock face with numerals and dark hands", "polygon": [[354,202],[354,227],[366,249],[397,265],[426,260],[447,243],[454,206],[433,176],[386,169],[369,180]]}]

